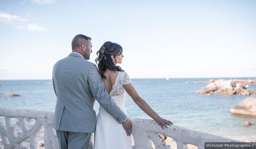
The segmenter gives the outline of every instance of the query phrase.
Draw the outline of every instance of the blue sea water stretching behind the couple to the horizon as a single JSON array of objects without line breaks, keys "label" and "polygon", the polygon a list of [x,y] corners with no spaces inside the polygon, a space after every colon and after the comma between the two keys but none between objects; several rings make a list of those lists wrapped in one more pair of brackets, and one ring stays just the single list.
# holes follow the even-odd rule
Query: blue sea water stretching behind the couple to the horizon
[{"label": "blue sea water stretching behind the couple to the horizon", "polygon": [[[209,79],[220,78],[132,79],[132,83],[151,108],[175,125],[239,141],[256,141],[256,117],[233,115],[229,112],[230,108],[243,99],[256,95],[200,96],[193,93],[207,84],[192,82]],[[189,83],[185,83],[186,81]],[[0,107],[54,111],[56,96],[51,82],[52,80],[0,80],[0,93],[4,92],[0,95]],[[249,86],[248,89],[256,90],[256,86]],[[21,96],[10,97],[11,93]],[[128,94],[125,106],[129,117],[151,119]],[[94,109],[97,113],[99,103],[96,102]],[[4,121],[3,117],[0,117],[0,121]],[[244,126],[245,121],[252,125]]]}]

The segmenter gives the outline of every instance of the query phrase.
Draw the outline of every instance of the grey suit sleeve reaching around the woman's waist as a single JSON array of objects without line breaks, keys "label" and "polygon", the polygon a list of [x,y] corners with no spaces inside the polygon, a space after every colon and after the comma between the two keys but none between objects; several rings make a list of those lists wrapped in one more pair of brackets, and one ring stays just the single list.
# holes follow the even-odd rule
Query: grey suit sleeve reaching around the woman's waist
[{"label": "grey suit sleeve reaching around the woman's waist", "polygon": [[89,87],[93,96],[99,102],[99,104],[117,120],[120,124],[124,122],[127,115],[117,106],[117,104],[111,99],[111,96],[106,91],[104,83],[97,71],[95,64],[92,64],[88,72]]}]

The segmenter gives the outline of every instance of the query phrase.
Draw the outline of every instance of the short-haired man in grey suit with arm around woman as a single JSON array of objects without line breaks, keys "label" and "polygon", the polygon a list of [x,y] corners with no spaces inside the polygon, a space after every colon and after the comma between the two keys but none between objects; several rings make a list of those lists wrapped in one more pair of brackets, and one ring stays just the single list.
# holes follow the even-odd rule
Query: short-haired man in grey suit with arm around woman
[{"label": "short-haired man in grey suit with arm around woman", "polygon": [[88,148],[90,134],[96,126],[93,97],[120,125],[123,123],[127,135],[132,131],[132,123],[107,93],[96,65],[87,61],[91,48],[90,37],[76,35],[72,53],[53,66],[53,88],[57,96],[53,128],[61,149]]}]

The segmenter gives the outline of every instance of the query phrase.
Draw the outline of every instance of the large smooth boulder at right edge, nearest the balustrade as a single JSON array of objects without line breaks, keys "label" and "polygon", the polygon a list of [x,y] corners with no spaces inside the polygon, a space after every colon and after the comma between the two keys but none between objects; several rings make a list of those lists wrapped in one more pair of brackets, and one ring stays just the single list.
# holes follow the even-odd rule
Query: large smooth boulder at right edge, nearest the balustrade
[{"label": "large smooth boulder at right edge, nearest the balustrade", "polygon": [[233,114],[256,116],[256,98],[245,98],[243,101],[235,105],[233,108],[229,109],[229,111]]}]

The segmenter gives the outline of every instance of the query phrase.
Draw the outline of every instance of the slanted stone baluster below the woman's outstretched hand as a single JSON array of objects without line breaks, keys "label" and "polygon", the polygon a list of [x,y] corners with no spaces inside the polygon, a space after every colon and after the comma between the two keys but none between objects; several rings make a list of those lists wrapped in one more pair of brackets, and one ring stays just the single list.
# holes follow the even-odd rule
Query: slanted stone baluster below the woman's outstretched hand
[{"label": "slanted stone baluster below the woman's outstretched hand", "polygon": [[149,132],[148,134],[157,149],[171,149],[171,146],[166,145],[160,134],[157,134],[156,132]]}]

